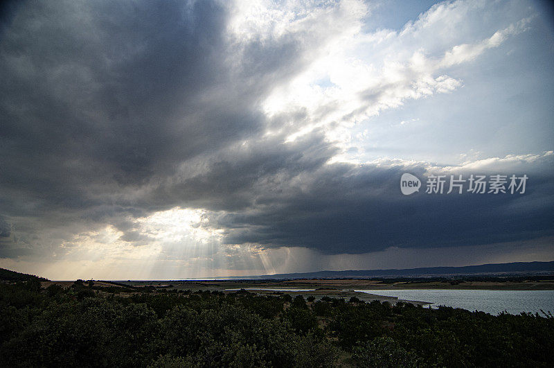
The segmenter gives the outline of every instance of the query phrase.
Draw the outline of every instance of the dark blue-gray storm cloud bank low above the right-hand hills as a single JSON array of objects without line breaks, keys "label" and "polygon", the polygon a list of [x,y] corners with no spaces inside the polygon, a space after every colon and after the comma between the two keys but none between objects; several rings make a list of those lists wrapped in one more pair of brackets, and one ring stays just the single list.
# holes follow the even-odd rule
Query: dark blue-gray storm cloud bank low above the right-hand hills
[{"label": "dark blue-gray storm cloud bank low above the right-hand hills", "polygon": [[[552,164],[552,160],[543,166]],[[450,247],[554,234],[553,180],[532,175],[524,195],[400,193],[402,173],[425,167],[332,165],[310,177],[307,191],[289,188],[279,200],[217,221],[229,243],[303,245],[324,253],[364,253],[386,247]],[[453,174],[457,174],[455,170]]]}]

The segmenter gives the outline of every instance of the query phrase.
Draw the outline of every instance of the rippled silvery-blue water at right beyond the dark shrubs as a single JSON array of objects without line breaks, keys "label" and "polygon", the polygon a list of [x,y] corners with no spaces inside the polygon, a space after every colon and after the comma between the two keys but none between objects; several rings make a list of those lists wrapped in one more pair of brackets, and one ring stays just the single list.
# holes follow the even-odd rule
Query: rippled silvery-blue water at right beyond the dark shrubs
[{"label": "rippled silvery-blue water at right beyond the dark shrubs", "polygon": [[369,294],[398,297],[398,299],[429,301],[439,305],[481,310],[496,315],[503,310],[511,314],[521,312],[554,313],[554,290],[355,290]]}]

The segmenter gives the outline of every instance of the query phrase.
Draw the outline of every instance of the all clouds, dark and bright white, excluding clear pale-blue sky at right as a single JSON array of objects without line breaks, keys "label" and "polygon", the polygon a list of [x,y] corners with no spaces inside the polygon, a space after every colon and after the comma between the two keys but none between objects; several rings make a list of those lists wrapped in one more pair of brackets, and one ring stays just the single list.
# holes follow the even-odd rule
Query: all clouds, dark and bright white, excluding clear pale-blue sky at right
[{"label": "all clouds, dark and bright white, excluding clear pale-blue sky at right", "polygon": [[[171,259],[191,242],[233,258],[240,245],[361,254],[552,236],[551,152],[456,165],[348,156],[353,126],[461,89],[457,67],[533,22],[462,26],[495,6],[440,3],[368,33],[355,1],[19,4],[0,28],[0,256],[71,257],[91,238]],[[402,196],[406,172],[530,182],[525,195]]]}]

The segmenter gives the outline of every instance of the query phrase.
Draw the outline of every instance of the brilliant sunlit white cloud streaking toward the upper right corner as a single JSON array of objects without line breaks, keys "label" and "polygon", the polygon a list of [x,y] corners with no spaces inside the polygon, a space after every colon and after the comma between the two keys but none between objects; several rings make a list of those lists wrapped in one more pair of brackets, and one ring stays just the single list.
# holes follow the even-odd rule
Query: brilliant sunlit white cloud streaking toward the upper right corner
[{"label": "brilliant sunlit white cloud streaking toward the upper right corner", "polygon": [[[306,42],[306,46],[316,47],[312,53],[320,57],[289,83],[274,89],[263,103],[265,112],[277,116],[303,111],[307,114],[303,121],[285,125],[289,141],[323,128],[328,140],[347,150],[353,144],[350,132],[356,124],[386,109],[401,107],[406,100],[456,91],[463,80],[449,75],[450,67],[476,60],[526,30],[533,19],[517,19],[511,24],[505,20],[503,26],[495,21],[494,25],[502,28],[491,30],[490,35],[491,27],[479,24],[478,15],[490,17],[497,11],[494,6],[485,1],[446,1],[399,32],[373,33],[363,33],[359,27],[363,11],[348,17],[337,13],[340,16],[333,20],[352,24],[339,30],[328,26],[323,12],[314,12],[310,24],[325,25],[318,28],[325,42]],[[298,32],[301,26],[297,21],[287,21],[301,40],[310,34]]]}]

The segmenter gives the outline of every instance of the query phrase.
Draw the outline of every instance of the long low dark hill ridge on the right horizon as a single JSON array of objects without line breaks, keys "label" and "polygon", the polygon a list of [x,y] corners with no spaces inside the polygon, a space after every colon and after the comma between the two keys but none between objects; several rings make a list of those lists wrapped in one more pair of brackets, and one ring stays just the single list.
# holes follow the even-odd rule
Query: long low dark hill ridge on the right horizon
[{"label": "long low dark hill ridge on the right horizon", "polygon": [[233,277],[233,279],[346,279],[366,277],[436,277],[478,274],[553,274],[554,261],[490,263],[463,267],[425,267],[400,270],[348,270],[318,271],[293,274],[266,274],[255,277]]}]

